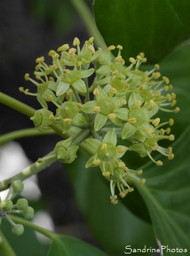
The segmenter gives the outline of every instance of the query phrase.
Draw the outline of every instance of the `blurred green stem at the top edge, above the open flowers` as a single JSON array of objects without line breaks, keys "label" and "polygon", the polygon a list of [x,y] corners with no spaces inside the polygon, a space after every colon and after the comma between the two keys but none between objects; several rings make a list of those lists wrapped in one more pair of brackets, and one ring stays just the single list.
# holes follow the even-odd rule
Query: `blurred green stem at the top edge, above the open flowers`
[{"label": "blurred green stem at the top edge, above the open flowers", "polygon": [[93,15],[90,12],[90,9],[86,5],[86,3],[83,0],[70,1],[73,4],[75,10],[81,16],[81,19],[83,20],[89,35],[94,36],[95,44],[99,47],[102,47],[103,49],[107,49],[107,45],[105,44],[104,39],[100,35],[99,29],[97,29],[95,20],[93,19]]}]

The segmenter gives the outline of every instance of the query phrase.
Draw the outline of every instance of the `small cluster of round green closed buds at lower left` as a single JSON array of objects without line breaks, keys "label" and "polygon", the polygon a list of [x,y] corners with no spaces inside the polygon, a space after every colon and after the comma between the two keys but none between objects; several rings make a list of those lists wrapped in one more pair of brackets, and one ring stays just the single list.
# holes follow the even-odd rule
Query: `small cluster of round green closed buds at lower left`
[{"label": "small cluster of round green closed buds at lower left", "polygon": [[13,197],[18,193],[22,193],[23,189],[24,184],[22,181],[13,181],[6,198],[0,202],[0,221],[7,220],[12,225],[12,234],[17,236],[24,233],[24,227],[22,224],[15,223],[10,214],[21,214],[26,220],[30,220],[34,216],[34,210],[28,205],[28,200],[25,198],[20,198],[16,204],[12,202]]}]

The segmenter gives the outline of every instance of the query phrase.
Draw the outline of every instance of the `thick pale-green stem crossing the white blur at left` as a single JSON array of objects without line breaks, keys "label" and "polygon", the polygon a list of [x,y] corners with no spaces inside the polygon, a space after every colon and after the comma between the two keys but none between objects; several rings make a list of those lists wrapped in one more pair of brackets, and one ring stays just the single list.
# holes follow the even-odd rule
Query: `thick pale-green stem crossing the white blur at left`
[{"label": "thick pale-green stem crossing the white blur at left", "polygon": [[54,163],[57,158],[54,155],[54,152],[51,152],[50,154],[47,154],[46,156],[42,157],[43,162],[37,163],[37,161],[30,166],[24,168],[22,172],[17,173],[13,177],[10,177],[6,180],[3,180],[0,182],[0,191],[4,191],[5,189],[8,189],[10,187],[10,184],[12,184],[13,180],[26,180],[32,175],[35,175],[36,173],[44,170],[48,166],[50,166],[52,163]]}]

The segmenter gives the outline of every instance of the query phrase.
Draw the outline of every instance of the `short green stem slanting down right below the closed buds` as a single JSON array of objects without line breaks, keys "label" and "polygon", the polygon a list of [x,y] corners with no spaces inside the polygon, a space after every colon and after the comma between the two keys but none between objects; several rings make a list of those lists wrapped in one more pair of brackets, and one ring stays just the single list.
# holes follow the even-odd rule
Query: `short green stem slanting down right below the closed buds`
[{"label": "short green stem slanting down right below the closed buds", "polygon": [[22,224],[28,228],[31,228],[37,232],[39,232],[40,234],[48,237],[49,239],[53,239],[56,234],[54,234],[53,232],[45,229],[45,228],[42,228],[42,227],[39,227],[38,225],[35,225],[33,222],[31,221],[28,221],[28,220],[24,220],[23,218],[19,218],[15,215],[11,215],[11,218],[12,220],[15,222],[15,223],[19,223],[19,224]]}]

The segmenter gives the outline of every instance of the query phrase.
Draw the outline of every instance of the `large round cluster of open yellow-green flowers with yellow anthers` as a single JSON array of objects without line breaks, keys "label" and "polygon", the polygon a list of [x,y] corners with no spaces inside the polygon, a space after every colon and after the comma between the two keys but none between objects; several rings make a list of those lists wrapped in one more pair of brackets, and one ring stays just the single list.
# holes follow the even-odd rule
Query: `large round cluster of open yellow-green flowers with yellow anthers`
[{"label": "large round cluster of open yellow-green flowers with yellow anthers", "polygon": [[[157,113],[159,110],[177,113],[176,95],[168,77],[158,72],[159,65],[150,71],[139,69],[146,62],[142,52],[129,58],[127,66],[121,45],[95,51],[92,37],[83,47],[74,38],[73,46],[64,44],[57,52],[49,51],[52,65],[47,65],[43,56],[37,58],[37,81],[25,75],[27,81],[35,84],[37,92],[31,93],[23,87],[19,90],[35,95],[42,105],[31,118],[36,129],[48,131],[57,125],[66,138],[70,137],[54,148],[59,161],[74,161],[77,145],[86,140],[93,154],[86,167],[100,166],[111,184],[111,202],[116,204],[115,186],[123,197],[133,190],[127,183],[129,177],[142,173],[127,168],[120,160],[127,150],[148,156],[157,166],[162,161],[155,161],[153,151],[173,159],[172,148],[161,147],[159,141],[174,140],[170,134],[174,121],[168,118],[167,122],[161,122]],[[116,56],[113,50],[117,51]],[[48,109],[50,102],[56,106],[56,113]],[[169,127],[163,128],[164,125]],[[116,146],[117,138],[122,138],[124,145]],[[145,179],[140,183],[145,183]]]}]

